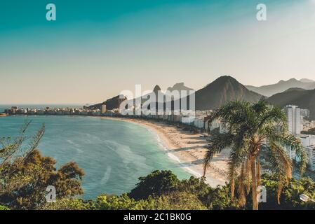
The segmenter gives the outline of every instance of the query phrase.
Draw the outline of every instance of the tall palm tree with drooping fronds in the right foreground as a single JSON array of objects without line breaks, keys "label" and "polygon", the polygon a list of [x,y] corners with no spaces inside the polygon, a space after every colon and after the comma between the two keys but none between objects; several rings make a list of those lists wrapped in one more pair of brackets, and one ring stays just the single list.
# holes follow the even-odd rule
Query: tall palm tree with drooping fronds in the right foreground
[{"label": "tall palm tree with drooping fronds in the right foreground", "polygon": [[258,209],[257,186],[260,184],[260,153],[265,148],[269,155],[271,170],[279,175],[278,203],[283,183],[292,176],[292,161],[286,148],[290,148],[300,158],[300,174],[307,164],[307,155],[300,140],[288,134],[286,114],[276,106],[260,100],[249,102],[229,102],[212,113],[208,124],[220,120],[227,127],[225,133],[214,133],[209,139],[205,157],[204,175],[213,156],[224,148],[231,148],[229,156],[229,183],[232,198],[237,186],[239,204],[246,204],[246,194],[252,186],[253,210]]}]

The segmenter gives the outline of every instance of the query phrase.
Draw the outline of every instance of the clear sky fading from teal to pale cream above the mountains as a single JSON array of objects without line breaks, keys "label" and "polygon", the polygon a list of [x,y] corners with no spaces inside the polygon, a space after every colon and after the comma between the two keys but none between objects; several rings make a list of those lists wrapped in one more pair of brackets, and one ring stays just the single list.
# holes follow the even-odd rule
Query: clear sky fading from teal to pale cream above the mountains
[{"label": "clear sky fading from teal to pale cream above the mountains", "polygon": [[314,40],[315,0],[1,0],[0,104],[92,104],[223,75],[315,79]]}]

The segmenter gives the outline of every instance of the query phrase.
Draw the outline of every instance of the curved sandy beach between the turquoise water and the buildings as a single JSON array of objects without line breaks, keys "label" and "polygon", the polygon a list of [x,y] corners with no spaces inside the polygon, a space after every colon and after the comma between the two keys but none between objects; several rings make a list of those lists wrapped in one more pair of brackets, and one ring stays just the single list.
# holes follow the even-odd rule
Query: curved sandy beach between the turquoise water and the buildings
[{"label": "curved sandy beach between the turquoise water and the buildings", "polygon": [[[206,153],[206,139],[201,134],[193,134],[182,130],[180,127],[168,125],[167,123],[153,120],[140,120],[132,118],[109,118],[104,119],[123,120],[147,127],[161,139],[163,148],[168,152],[168,156],[179,162],[187,172],[196,177],[203,175],[203,158]],[[224,185],[227,181],[227,160],[229,151],[224,150],[220,155],[213,158],[206,172],[206,182],[210,186]]]}]

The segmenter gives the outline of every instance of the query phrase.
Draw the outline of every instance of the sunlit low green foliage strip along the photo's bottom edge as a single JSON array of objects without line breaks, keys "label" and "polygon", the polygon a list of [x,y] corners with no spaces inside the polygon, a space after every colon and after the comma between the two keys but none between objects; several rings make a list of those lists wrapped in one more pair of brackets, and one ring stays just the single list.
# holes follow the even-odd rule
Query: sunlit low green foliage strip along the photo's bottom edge
[{"label": "sunlit low green foliage strip along the photo's bottom edge", "polygon": [[[164,173],[164,172],[160,172]],[[171,172],[169,174],[172,174]],[[156,172],[154,172],[156,175]],[[170,175],[173,176],[173,175]],[[151,178],[152,174],[147,177]],[[145,177],[142,178],[145,179]],[[173,179],[170,179],[171,181]],[[260,203],[259,209],[315,209],[313,202],[301,202],[300,195],[306,194],[315,199],[315,183],[309,178],[300,180],[290,179],[283,185],[281,192],[281,203],[278,204],[276,198],[279,187],[279,176],[263,174],[261,185],[267,188],[267,203]],[[95,201],[81,200],[64,197],[56,202],[42,203],[36,209],[41,210],[227,210],[227,209],[250,209],[251,194],[246,195],[247,202],[241,207],[237,200],[231,197],[229,183],[226,186],[211,188],[202,179],[193,176],[188,180],[177,180],[177,185],[163,193],[157,195],[152,191],[152,195],[147,195],[146,199],[136,200],[123,195],[100,195]],[[236,194],[237,196],[237,194]],[[0,206],[0,210],[8,207]],[[19,209],[13,207],[13,209]]]}]

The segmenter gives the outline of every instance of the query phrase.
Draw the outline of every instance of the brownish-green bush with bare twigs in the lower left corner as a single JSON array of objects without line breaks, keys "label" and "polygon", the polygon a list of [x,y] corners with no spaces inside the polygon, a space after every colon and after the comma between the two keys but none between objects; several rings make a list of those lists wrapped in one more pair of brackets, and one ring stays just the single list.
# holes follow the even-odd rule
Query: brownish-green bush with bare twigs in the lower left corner
[{"label": "brownish-green bush with bare twigs in the lower left corner", "polygon": [[[75,162],[55,168],[56,161],[43,157],[36,149],[45,126],[25,142],[29,123],[22,127],[16,139],[1,139],[0,202],[11,209],[37,209],[46,204],[46,188],[54,186],[57,199],[83,194],[81,179],[84,172]],[[24,145],[29,145],[25,148]],[[22,147],[23,146],[23,147]]]}]

